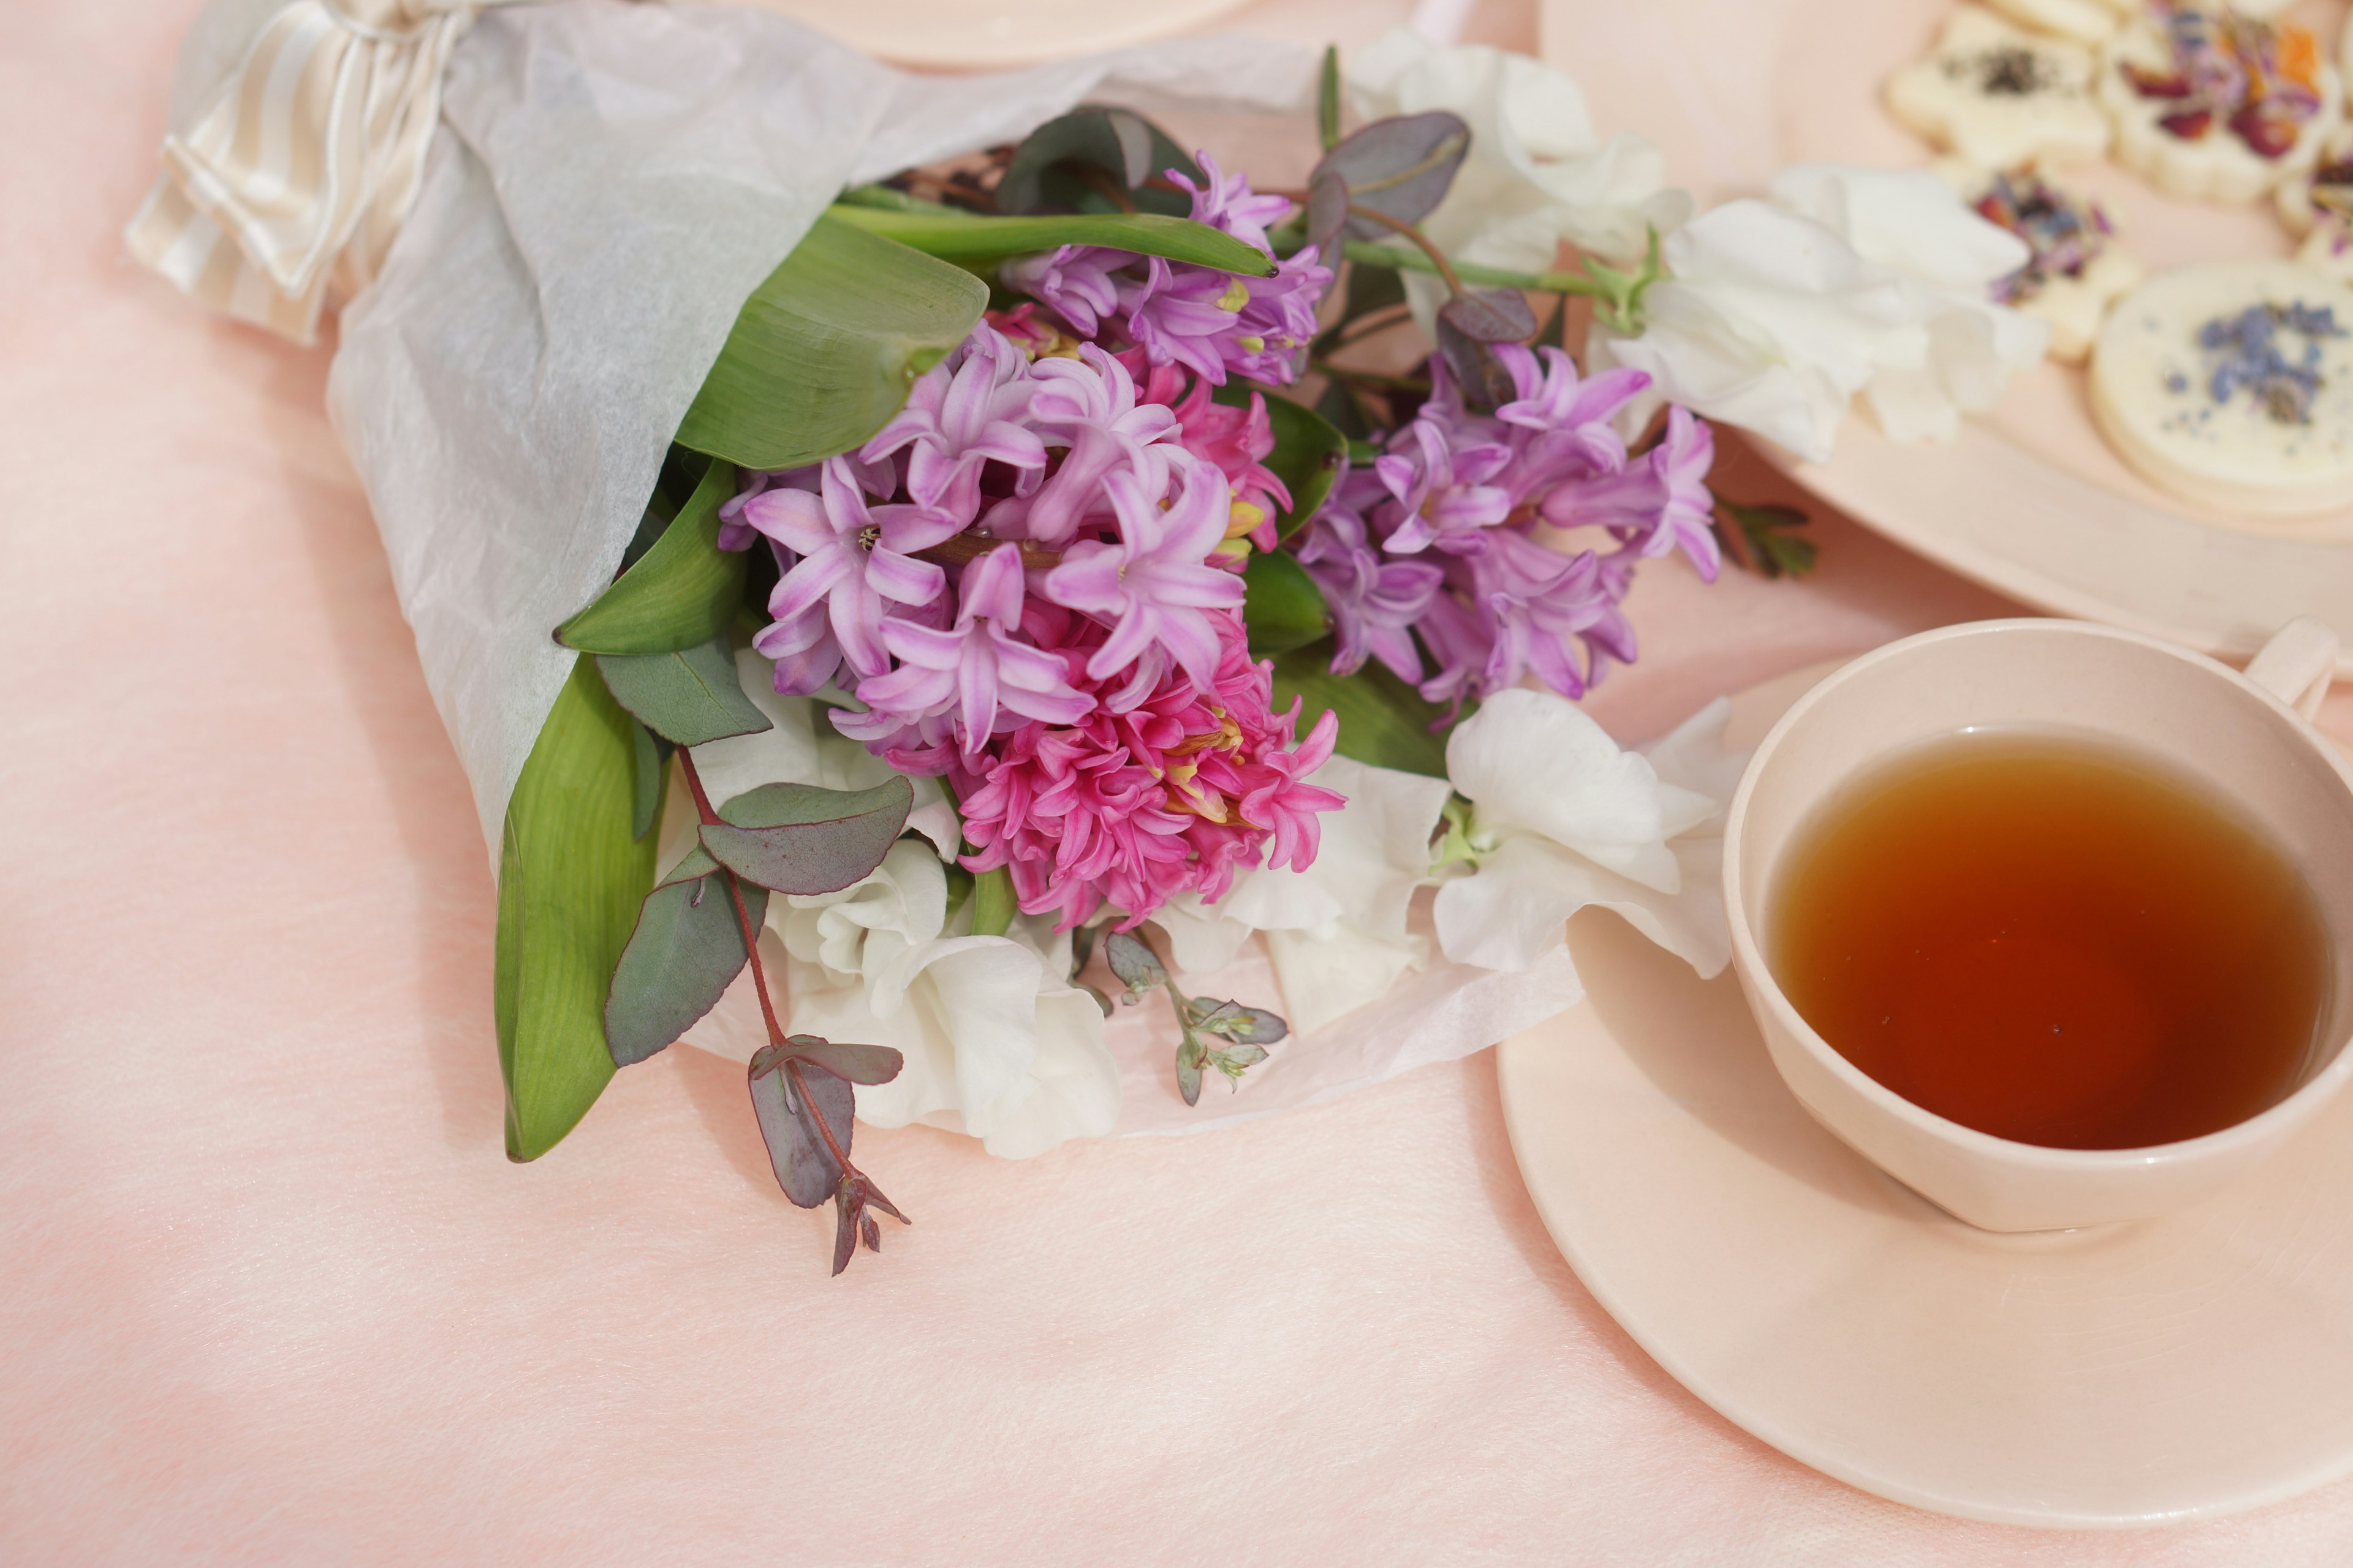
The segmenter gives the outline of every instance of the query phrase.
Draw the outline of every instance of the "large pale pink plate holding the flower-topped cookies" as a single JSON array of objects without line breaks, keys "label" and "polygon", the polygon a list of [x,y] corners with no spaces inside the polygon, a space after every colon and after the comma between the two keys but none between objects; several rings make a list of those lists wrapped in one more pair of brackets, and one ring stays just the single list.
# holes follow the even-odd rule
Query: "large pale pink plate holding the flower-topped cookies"
[{"label": "large pale pink plate holding the flower-topped cookies", "polygon": [[[1668,174],[1713,202],[1751,195],[1800,160],[1927,165],[1929,146],[1887,118],[1880,87],[1927,52],[1951,9],[1953,0],[1657,0],[1649,16],[1619,26],[1602,0],[1548,0],[1544,24],[1551,56],[1586,82],[1595,120],[1654,134]],[[2337,59],[2344,9],[2304,0],[2287,16]],[[2068,167],[2061,181],[2106,207],[2148,270],[2294,249],[2268,197],[2184,202],[2113,165]],[[2353,512],[2249,522],[2158,491],[2092,425],[2080,369],[2021,376],[1948,447],[1894,444],[1854,416],[1831,463],[1779,461],[1859,522],[2038,609],[2224,656],[2254,654],[2294,616],[2315,616],[2353,649]],[[2353,675],[2353,654],[2339,668]]]}]

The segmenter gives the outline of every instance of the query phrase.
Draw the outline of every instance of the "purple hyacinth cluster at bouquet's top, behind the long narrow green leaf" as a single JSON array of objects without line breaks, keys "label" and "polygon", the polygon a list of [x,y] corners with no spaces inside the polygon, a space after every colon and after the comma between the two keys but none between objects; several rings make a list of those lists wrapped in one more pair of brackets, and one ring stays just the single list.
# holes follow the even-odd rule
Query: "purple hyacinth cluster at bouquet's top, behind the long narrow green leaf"
[{"label": "purple hyacinth cluster at bouquet's top, behind the long narrow green leaf", "polygon": [[[1169,169],[1193,197],[1193,221],[1273,256],[1266,226],[1287,219],[1292,202],[1254,193],[1207,153],[1198,162],[1200,186]],[[1313,244],[1278,261],[1273,277],[1066,244],[1009,261],[1005,284],[1042,301],[1080,336],[1118,327],[1153,364],[1181,364],[1212,386],[1228,374],[1280,386],[1299,378],[1299,350],[1315,336],[1315,306],[1332,287],[1332,268],[1318,263]]]}]

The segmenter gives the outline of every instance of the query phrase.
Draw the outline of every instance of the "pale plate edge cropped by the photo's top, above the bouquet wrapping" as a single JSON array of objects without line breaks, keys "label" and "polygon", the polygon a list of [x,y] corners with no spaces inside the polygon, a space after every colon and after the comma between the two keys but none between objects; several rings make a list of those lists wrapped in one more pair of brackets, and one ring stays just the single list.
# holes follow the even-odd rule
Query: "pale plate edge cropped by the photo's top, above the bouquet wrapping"
[{"label": "pale plate edge cropped by the photo's top, above the bouquet wrapping", "polygon": [[1186,33],[1247,0],[753,0],[899,66],[981,71]]}]

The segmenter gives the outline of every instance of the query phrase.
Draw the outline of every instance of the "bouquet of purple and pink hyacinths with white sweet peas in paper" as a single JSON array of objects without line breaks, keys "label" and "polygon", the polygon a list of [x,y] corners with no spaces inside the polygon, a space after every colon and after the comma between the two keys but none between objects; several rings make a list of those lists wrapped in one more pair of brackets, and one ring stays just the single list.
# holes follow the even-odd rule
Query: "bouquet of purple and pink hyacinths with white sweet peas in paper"
[{"label": "bouquet of purple and pink hyacinths with white sweet peas in paper", "polygon": [[[544,9],[456,52],[456,134],[414,197],[435,266],[376,256],[334,393],[452,733],[468,762],[499,757],[478,790],[487,823],[496,809],[511,1157],[553,1147],[616,1067],[751,1030],[776,1180],[805,1208],[835,1206],[840,1272],[861,1241],[880,1248],[875,1213],[906,1218],[856,1166],[854,1117],[948,1121],[1007,1154],[1106,1133],[1122,1004],[1167,999],[1162,1063],[1193,1105],[1294,1023],[1391,994],[1433,943],[1475,971],[1551,964],[1541,1011],[1577,997],[1562,922],[1586,903],[1708,973],[1725,964],[1708,825],[1739,759],[1713,741],[1720,708],[1642,755],[1572,701],[1635,658],[1621,602],[1642,562],[1682,555],[1713,578],[1732,536],[1760,564],[1802,564],[1774,534],[1784,517],[1711,496],[1699,414],[1805,444],[1892,371],[1934,423],[1967,376],[1939,369],[1927,346],[1955,334],[1932,327],[2007,327],[1981,287],[2007,268],[1979,299],[1889,273],[1838,235],[1875,233],[1878,188],[1835,176],[1685,226],[1654,153],[1598,143],[1581,106],[1560,120],[1562,78],[1398,35],[1353,85],[1325,54],[1313,122],[1299,118],[1318,160],[1294,190],[1111,103],[1042,115],[1031,94],[998,115],[1026,125],[1014,139],[878,132],[814,176],[831,200],[713,317],[722,341],[647,454],[652,484],[607,461],[579,489],[532,421],[593,383],[640,430],[664,395],[631,397],[626,322],[595,374],[567,369],[565,254],[534,235],[560,228],[546,186],[569,176],[515,176],[496,82],[532,78],[551,38],[569,63],[619,59],[633,28],[642,54],[671,38],[647,26],[736,24]],[[955,143],[892,162],[894,146]],[[188,146],[202,153],[202,129]],[[581,179],[609,174],[595,146],[572,158]],[[482,275],[527,275],[539,299],[527,390],[485,369],[480,320],[513,339],[529,310],[492,282],[480,317],[464,287],[449,299],[471,233],[452,214],[480,212],[489,186],[518,230]],[[1934,221],[1993,233],[1958,197],[1944,207]],[[158,212],[172,216],[151,205],[134,249]],[[235,219],[207,214],[186,223]],[[1793,228],[1852,266],[1812,256],[1779,280],[1809,299],[1779,308],[1774,280],[1737,273],[1772,268]],[[148,259],[172,270],[184,233]],[[708,214],[668,237],[736,244]],[[1577,266],[1558,266],[1562,240]],[[1969,240],[1969,266],[2007,259]],[[308,331],[327,282],[299,287]],[[285,327],[273,299],[264,320]],[[1409,320],[1433,350],[1398,353]],[[680,360],[696,355],[661,364]],[[1981,360],[1965,367],[1977,395]],[[468,404],[489,435],[456,416]],[[572,409],[598,418],[593,400]],[[605,581],[572,602],[515,571],[522,524],[485,545],[407,522],[433,510],[421,451],[454,454],[478,489],[468,442],[518,430],[541,489],[574,484],[584,515],[619,494],[635,517],[616,564],[581,557]],[[468,562],[529,581],[468,621],[445,609]],[[579,581],[579,559],[567,571]],[[511,696],[529,682],[485,677],[499,649],[553,672],[522,748],[513,719],[534,701]],[[1254,938],[1280,997],[1179,985]],[[1513,1018],[1494,1027],[1532,1020]]]}]

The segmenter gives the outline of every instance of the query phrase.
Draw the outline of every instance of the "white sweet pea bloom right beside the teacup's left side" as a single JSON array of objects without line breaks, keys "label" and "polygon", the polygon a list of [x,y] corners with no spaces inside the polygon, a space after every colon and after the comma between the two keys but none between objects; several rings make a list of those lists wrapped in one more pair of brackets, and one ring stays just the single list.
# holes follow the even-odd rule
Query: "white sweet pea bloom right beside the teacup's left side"
[{"label": "white sweet pea bloom right beside the teacup's left side", "polygon": [[1447,738],[1471,799],[1475,872],[1438,889],[1438,943],[1457,964],[1527,971],[1588,903],[1624,914],[1701,976],[1732,959],[1722,820],[1739,757],[1715,701],[1645,752],[1619,750],[1551,691],[1499,691]]}]

